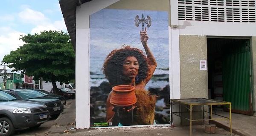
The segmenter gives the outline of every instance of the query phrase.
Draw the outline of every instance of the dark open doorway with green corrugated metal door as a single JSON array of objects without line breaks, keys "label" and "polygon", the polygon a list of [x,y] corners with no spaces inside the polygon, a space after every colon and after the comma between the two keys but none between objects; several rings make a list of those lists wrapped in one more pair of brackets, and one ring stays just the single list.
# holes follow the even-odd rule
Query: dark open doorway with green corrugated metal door
[{"label": "dark open doorway with green corrugated metal door", "polygon": [[209,98],[253,115],[250,39],[207,38],[207,59]]}]

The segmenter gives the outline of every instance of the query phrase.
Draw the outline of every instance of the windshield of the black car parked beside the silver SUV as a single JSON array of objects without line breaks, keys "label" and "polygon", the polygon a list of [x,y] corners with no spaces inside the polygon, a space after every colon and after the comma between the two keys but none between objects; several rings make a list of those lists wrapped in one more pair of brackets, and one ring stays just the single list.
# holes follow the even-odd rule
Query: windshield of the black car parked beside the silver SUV
[{"label": "windshield of the black car parked beside the silver SUV", "polygon": [[20,90],[20,91],[15,91],[15,92],[23,99],[44,97],[44,94],[41,94],[40,92],[37,92],[35,90]]}]

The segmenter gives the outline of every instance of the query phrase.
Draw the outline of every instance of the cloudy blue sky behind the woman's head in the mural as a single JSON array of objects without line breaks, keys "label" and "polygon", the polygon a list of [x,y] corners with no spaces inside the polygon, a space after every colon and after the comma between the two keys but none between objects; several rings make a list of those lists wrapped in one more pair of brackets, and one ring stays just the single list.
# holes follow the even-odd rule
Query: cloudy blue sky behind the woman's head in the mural
[{"label": "cloudy blue sky behind the woman's head in the mural", "polygon": [[136,15],[151,17],[147,29],[148,46],[157,60],[157,68],[169,67],[168,13],[165,11],[139,11],[103,9],[90,16],[90,71],[102,73],[105,57],[123,44],[142,50],[140,30],[134,25]]}]

